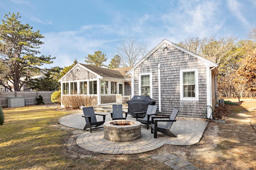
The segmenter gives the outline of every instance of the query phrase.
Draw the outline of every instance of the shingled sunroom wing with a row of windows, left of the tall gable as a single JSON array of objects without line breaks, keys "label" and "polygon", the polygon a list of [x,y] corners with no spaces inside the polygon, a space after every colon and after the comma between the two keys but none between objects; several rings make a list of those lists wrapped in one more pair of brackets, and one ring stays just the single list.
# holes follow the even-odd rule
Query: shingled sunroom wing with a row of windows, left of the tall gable
[{"label": "shingled sunroom wing with a row of windows, left of the tall gable", "polygon": [[61,95],[92,96],[97,105],[114,103],[116,94],[131,95],[131,77],[127,74],[131,68],[108,69],[78,63],[59,80]]}]

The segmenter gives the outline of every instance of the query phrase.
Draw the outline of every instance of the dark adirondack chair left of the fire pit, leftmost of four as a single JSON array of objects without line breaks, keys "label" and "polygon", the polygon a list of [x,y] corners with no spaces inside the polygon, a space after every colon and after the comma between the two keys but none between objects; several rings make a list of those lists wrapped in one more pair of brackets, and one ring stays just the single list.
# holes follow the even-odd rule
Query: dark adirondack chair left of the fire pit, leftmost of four
[{"label": "dark adirondack chair left of the fire pit, leftmost of four", "polygon": [[[101,128],[99,126],[103,125],[103,123],[105,122],[106,114],[95,114],[93,107],[83,107],[83,111],[84,115],[82,115],[82,117],[84,117],[86,121],[84,130],[90,127],[90,133],[92,133],[92,127],[93,129]],[[103,121],[97,121],[96,115],[103,116]]]}]

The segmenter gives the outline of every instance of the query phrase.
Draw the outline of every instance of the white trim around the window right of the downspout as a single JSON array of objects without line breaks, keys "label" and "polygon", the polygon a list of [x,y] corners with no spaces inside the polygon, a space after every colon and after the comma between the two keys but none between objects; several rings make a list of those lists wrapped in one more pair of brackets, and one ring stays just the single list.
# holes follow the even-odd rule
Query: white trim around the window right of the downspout
[{"label": "white trim around the window right of the downspout", "polygon": [[[195,97],[183,97],[183,73],[195,72]],[[198,69],[180,70],[180,100],[199,100],[198,97]]]}]

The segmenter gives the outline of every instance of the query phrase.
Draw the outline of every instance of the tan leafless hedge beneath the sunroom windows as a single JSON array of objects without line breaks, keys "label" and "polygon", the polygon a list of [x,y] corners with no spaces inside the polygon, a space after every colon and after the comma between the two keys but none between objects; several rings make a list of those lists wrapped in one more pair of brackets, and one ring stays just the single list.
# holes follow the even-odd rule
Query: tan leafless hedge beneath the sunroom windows
[{"label": "tan leafless hedge beneath the sunroom windows", "polygon": [[91,96],[62,96],[62,105],[65,108],[77,109],[80,106],[95,106],[97,104],[97,98]]}]

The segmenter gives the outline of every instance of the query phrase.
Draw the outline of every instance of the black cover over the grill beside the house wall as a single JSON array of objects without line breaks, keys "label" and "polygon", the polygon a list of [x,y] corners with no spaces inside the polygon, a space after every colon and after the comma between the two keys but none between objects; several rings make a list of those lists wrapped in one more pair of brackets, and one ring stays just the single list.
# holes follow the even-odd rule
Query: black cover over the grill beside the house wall
[{"label": "black cover over the grill beside the house wall", "polygon": [[[136,117],[134,112],[147,111],[148,105],[155,105],[156,101],[149,96],[133,96],[127,101],[128,104],[128,114]],[[144,117],[146,113],[139,113],[138,117]]]}]

